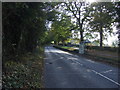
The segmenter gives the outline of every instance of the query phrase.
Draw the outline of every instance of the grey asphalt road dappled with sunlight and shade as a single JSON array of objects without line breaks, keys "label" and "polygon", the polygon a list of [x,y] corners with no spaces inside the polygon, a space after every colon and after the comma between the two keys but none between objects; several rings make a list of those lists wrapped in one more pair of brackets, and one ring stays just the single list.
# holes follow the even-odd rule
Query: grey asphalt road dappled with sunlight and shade
[{"label": "grey asphalt road dappled with sunlight and shade", "polygon": [[[45,88],[119,88],[119,69],[45,47]],[[119,75],[118,75],[119,74]]]}]

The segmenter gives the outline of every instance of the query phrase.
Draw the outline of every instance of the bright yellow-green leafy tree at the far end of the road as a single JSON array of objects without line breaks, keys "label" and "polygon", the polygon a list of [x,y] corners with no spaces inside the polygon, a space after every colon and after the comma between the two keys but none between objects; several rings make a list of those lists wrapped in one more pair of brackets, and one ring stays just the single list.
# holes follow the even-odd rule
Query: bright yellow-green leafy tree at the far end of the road
[{"label": "bright yellow-green leafy tree at the far end of the road", "polygon": [[70,36],[70,18],[62,15],[61,19],[53,22],[51,32],[53,33],[53,40],[58,44],[60,41],[64,44],[65,40]]}]

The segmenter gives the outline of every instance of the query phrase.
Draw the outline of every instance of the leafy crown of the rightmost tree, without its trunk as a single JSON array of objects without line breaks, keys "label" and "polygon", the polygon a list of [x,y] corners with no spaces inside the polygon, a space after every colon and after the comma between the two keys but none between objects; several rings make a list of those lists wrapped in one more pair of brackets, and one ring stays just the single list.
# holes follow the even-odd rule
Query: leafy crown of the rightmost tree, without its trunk
[{"label": "leafy crown of the rightmost tree, without its trunk", "polygon": [[93,20],[90,22],[91,27],[98,30],[98,32],[101,24],[103,28],[109,28],[113,22],[111,14],[113,13],[113,8],[111,9],[113,7],[112,3],[94,3],[92,7],[94,7],[94,12],[91,14],[93,17]]}]

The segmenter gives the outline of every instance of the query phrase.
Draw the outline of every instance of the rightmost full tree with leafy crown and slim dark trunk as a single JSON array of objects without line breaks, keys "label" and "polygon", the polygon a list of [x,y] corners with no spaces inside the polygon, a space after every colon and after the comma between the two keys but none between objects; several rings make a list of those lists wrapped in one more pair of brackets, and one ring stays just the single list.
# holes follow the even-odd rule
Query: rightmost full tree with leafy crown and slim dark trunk
[{"label": "rightmost full tree with leafy crown and slim dark trunk", "polygon": [[[111,2],[98,2],[91,5],[93,11],[91,16],[93,19],[89,22],[91,31],[99,32],[100,35],[100,47],[103,46],[103,39],[106,34],[112,33],[112,24],[114,22],[114,6]],[[107,32],[107,33],[106,33]]]}]

